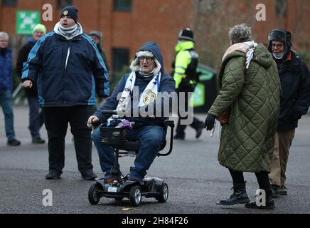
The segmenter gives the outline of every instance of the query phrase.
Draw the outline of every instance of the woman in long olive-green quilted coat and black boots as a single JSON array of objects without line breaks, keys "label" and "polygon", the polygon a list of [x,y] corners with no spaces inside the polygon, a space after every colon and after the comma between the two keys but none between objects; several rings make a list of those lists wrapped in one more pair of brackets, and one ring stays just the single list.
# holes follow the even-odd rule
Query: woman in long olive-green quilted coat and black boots
[{"label": "woman in long olive-green quilted coat and black boots", "polygon": [[[231,28],[229,38],[231,46],[219,75],[220,91],[205,120],[207,130],[212,130],[215,118],[222,125],[218,160],[228,168],[233,182],[233,194],[218,204],[273,209],[268,173],[279,113],[277,65],[267,48],[252,41],[246,24]],[[243,172],[255,172],[266,204],[249,203]]]}]

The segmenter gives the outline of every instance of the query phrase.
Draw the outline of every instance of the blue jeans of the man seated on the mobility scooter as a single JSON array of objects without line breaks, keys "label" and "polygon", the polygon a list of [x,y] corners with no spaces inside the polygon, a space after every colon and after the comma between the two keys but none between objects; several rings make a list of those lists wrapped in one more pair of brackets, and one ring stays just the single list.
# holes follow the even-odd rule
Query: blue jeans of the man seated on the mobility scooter
[{"label": "blue jeans of the man seated on the mobility scooter", "polygon": [[[154,161],[159,149],[164,142],[164,128],[155,125],[148,125],[143,128],[132,129],[127,131],[127,139],[139,140],[141,147],[136,159],[134,167],[130,167],[129,177],[142,180],[149,170],[151,163]],[[95,143],[99,155],[100,166],[105,177],[110,176],[110,170],[114,165],[114,150],[112,146],[102,145],[100,143],[100,129],[97,128],[92,134],[92,140]]]}]

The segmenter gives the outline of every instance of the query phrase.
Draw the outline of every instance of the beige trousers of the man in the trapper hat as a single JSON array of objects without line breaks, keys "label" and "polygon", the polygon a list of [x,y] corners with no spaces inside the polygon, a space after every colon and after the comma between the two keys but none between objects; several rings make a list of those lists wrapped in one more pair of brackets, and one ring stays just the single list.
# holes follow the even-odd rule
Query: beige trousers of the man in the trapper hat
[{"label": "beige trousers of the man in the trapper hat", "polygon": [[274,154],[270,166],[269,180],[272,185],[282,186],[285,183],[287,161],[289,160],[289,147],[295,135],[292,130],[277,131],[274,139]]}]

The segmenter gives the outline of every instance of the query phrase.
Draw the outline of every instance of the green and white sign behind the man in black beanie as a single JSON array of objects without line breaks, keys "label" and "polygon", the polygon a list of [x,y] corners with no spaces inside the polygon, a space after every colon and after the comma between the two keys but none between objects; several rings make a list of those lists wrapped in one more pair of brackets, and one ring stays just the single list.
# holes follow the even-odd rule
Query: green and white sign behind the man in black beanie
[{"label": "green and white sign behind the man in black beanie", "polygon": [[31,35],[40,23],[40,11],[16,11],[16,34]]}]

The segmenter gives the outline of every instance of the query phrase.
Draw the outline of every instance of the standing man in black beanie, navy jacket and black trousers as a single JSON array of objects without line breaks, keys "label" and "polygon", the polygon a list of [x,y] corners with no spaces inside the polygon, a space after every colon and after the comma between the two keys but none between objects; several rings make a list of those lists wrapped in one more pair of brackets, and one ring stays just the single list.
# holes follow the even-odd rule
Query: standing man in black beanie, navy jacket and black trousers
[{"label": "standing man in black beanie, navy jacket and black trousers", "polygon": [[78,170],[94,180],[91,129],[86,122],[95,105],[95,92],[109,95],[107,68],[90,36],[77,23],[77,9],[65,7],[54,31],[37,41],[24,63],[23,86],[38,82],[38,98],[48,132],[49,173],[58,179],[65,165],[65,135],[68,123],[75,138]]}]

